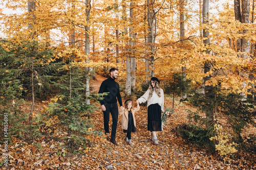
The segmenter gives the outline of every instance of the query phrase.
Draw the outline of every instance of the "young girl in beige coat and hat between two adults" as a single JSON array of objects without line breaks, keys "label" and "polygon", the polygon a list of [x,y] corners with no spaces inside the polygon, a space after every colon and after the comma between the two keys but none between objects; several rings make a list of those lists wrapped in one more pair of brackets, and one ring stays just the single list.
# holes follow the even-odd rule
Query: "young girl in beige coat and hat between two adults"
[{"label": "young girl in beige coat and hat between two adults", "polygon": [[135,112],[139,110],[139,104],[137,104],[136,108],[133,108],[133,101],[129,99],[124,102],[124,108],[119,112],[122,115],[123,133],[127,133],[125,141],[129,142],[129,144],[132,144],[131,133],[136,132]]}]

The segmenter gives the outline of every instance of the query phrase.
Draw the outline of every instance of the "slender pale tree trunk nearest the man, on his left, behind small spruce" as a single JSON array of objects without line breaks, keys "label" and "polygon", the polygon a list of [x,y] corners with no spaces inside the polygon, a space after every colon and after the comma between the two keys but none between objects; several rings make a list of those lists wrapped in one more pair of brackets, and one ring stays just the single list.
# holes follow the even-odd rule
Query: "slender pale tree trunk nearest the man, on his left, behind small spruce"
[{"label": "slender pale tree trunk nearest the man, on his left, behind small spruce", "polygon": [[[86,5],[86,44],[85,44],[85,49],[84,51],[86,52],[86,56],[88,59],[86,59],[86,62],[89,62],[89,55],[90,55],[90,36],[89,36],[89,31],[90,31],[90,12],[91,12],[91,0],[86,0],[85,5]],[[90,68],[86,67],[86,95],[90,95]],[[90,105],[90,99],[87,99],[86,103]]]}]

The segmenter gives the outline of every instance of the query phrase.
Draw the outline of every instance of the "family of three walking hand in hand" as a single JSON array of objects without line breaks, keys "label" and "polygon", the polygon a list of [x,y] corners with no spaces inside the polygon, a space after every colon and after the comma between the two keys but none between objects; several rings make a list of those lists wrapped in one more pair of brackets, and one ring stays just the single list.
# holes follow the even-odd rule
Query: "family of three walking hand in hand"
[{"label": "family of three walking hand in hand", "polygon": [[[140,110],[139,104],[147,102],[147,130],[151,131],[151,139],[154,144],[158,144],[157,131],[162,131],[161,113],[164,111],[164,93],[160,88],[160,81],[156,77],[151,78],[150,87],[147,91],[136,101],[137,107],[133,108],[133,101],[126,100],[124,107],[122,106],[122,99],[119,90],[119,84],[115,82],[118,75],[117,68],[110,69],[110,78],[104,80],[99,89],[99,93],[109,92],[108,95],[103,96],[100,100],[101,109],[104,117],[104,131],[106,136],[109,134],[109,120],[110,113],[112,115],[112,131],[110,141],[118,145],[116,138],[116,129],[118,121],[118,113],[122,115],[122,129],[126,133],[125,141],[132,144],[131,133],[136,132],[135,112]],[[117,101],[120,105],[118,111]]]}]

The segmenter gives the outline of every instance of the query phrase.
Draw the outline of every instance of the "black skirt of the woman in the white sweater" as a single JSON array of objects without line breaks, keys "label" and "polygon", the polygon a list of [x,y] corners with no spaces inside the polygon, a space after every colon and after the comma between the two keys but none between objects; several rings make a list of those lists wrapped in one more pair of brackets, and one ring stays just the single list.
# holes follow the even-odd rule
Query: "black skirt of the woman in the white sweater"
[{"label": "black skirt of the woman in the white sweater", "polygon": [[147,130],[162,131],[161,106],[152,104],[147,108]]}]

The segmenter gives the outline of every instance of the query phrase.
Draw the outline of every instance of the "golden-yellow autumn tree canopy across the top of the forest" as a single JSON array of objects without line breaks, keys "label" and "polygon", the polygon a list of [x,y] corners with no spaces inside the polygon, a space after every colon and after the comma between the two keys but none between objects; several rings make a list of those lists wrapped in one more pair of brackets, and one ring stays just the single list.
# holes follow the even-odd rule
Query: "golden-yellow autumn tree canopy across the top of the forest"
[{"label": "golden-yellow autumn tree canopy across the top of the forest", "polygon": [[[242,23],[242,14],[241,17],[239,14],[235,15],[234,11],[231,14],[231,10],[236,9],[236,4],[240,5],[240,3],[234,3],[234,9],[231,5],[228,8],[217,9],[215,15],[218,17],[210,12],[205,14],[211,18],[209,27],[208,22],[203,23],[203,26],[200,26],[200,23],[195,24],[198,23],[200,18],[198,14],[201,13],[202,8],[197,8],[199,5],[195,6],[192,1],[105,0],[104,3],[93,1],[91,7],[90,1],[74,0],[72,2],[75,10],[72,11],[71,2],[68,6],[65,2],[43,0],[38,4],[36,2],[37,9],[31,10],[30,13],[26,12],[28,1],[26,4],[14,0],[10,2],[12,3],[6,4],[5,8],[19,7],[24,11],[9,15],[1,12],[2,31],[6,39],[20,43],[25,37],[29,38],[24,35],[31,35],[31,30],[27,29],[30,24],[31,29],[33,26],[36,41],[49,41],[56,47],[54,53],[56,60],[67,61],[72,52],[75,56],[74,64],[83,68],[82,70],[95,68],[97,71],[112,66],[119,67],[120,70],[124,70],[120,71],[121,82],[125,81],[125,76],[131,76],[126,79],[126,84],[123,83],[127,85],[127,89],[139,87],[139,84],[144,82],[145,76],[146,80],[152,76],[157,76],[160,80],[172,80],[173,73],[177,71],[186,73],[187,79],[193,80],[195,84],[201,84],[202,78],[207,78],[204,81],[206,88],[207,85],[214,87],[221,84],[226,92],[244,92],[246,95],[247,89],[254,84],[253,79],[246,77],[246,72],[247,75],[254,74],[252,71],[254,59],[250,59],[248,63],[245,59],[248,59],[246,57],[249,55],[244,51],[248,51],[249,44],[255,42],[254,26],[251,23]],[[118,16],[122,15],[123,9],[119,7],[124,4],[126,19],[124,17],[120,19]],[[184,8],[180,6],[183,4]],[[183,13],[179,8],[183,8]],[[253,19],[252,14],[249,17]],[[33,16],[36,17],[31,20]],[[248,18],[248,14],[244,16]],[[233,22],[234,19],[237,19],[236,22]],[[184,36],[182,20],[186,23]],[[207,21],[205,18],[204,20]],[[10,25],[16,27],[9,27]],[[203,28],[204,42],[200,37],[201,33],[195,31]],[[210,34],[206,36],[209,32]],[[68,45],[70,36],[75,38],[74,47]],[[211,39],[210,44],[207,42],[208,39]],[[239,47],[239,39],[243,40],[243,46]],[[226,46],[227,41],[228,46]],[[242,53],[245,58],[234,57],[241,56]],[[128,62],[118,63],[119,60]],[[137,70],[136,64],[133,63],[137,63]],[[204,72],[201,72],[202,67],[205,68]],[[135,72],[136,79],[133,76]],[[236,75],[237,72],[239,75]],[[205,90],[207,91],[209,90]]]}]

